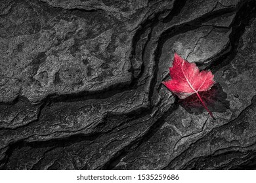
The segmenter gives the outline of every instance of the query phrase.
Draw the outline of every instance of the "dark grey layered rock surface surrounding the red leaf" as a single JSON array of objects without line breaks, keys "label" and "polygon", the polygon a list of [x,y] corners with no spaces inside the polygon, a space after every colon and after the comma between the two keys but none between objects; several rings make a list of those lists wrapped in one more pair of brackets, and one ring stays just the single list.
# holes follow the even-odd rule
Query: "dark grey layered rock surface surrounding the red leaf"
[{"label": "dark grey layered rock surface surrounding the red leaf", "polygon": [[[1,169],[255,169],[254,0],[5,0],[0,25]],[[161,84],[174,50],[217,120]]]}]

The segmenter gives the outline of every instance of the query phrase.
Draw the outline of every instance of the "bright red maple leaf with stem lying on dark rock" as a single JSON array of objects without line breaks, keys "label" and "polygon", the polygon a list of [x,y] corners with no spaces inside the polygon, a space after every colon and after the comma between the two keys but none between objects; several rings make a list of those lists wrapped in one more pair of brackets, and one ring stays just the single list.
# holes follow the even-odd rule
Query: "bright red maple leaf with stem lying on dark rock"
[{"label": "bright red maple leaf with stem lying on dark rock", "polygon": [[169,67],[169,71],[171,80],[162,83],[180,99],[185,99],[196,93],[203,107],[209,112],[211,117],[215,119],[198,93],[211,89],[211,86],[215,83],[211,71],[200,72],[196,63],[189,63],[176,53],[174,54],[173,67]]}]

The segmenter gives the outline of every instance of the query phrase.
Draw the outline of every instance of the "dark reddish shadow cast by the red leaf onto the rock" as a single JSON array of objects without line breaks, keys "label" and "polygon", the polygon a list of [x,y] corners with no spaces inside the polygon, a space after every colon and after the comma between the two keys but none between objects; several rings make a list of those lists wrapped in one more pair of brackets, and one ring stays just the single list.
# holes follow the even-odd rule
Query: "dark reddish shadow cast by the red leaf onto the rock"
[{"label": "dark reddish shadow cast by the red leaf onto the rock", "polygon": [[[225,112],[230,108],[230,102],[226,100],[227,94],[219,83],[212,86],[211,90],[198,93],[211,112]],[[196,93],[186,97],[186,99],[179,99],[179,104],[190,114],[198,115],[205,111]]]}]

